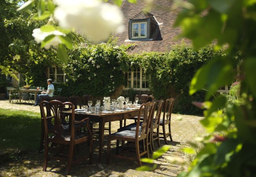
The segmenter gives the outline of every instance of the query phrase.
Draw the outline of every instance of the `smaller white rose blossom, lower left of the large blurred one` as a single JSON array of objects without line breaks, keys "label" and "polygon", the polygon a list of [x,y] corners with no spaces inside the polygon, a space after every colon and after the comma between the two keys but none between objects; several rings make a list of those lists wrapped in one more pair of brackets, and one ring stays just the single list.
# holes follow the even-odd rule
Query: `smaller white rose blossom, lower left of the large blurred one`
[{"label": "smaller white rose blossom, lower left of the large blurred one", "polygon": [[55,37],[53,39],[50,40],[50,42],[48,42],[48,44],[46,44],[44,46],[45,49],[49,49],[51,46],[58,46],[59,44],[61,44],[61,40],[59,39],[59,36],[66,36],[66,34],[61,33],[58,30],[54,30],[54,31],[50,31],[50,32],[43,32],[41,31],[40,28],[36,28],[33,30],[32,36],[35,38],[35,42],[37,42],[38,44],[43,42],[43,40],[49,36],[49,35],[55,35]]}]

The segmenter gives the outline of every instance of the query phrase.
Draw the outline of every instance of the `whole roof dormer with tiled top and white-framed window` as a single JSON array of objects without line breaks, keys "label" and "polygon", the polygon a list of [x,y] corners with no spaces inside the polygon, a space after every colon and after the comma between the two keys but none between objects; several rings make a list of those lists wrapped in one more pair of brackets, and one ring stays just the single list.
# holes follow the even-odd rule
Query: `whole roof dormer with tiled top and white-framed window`
[{"label": "whole roof dormer with tiled top and white-framed window", "polygon": [[129,20],[129,39],[149,39],[157,25],[152,14],[140,11]]}]

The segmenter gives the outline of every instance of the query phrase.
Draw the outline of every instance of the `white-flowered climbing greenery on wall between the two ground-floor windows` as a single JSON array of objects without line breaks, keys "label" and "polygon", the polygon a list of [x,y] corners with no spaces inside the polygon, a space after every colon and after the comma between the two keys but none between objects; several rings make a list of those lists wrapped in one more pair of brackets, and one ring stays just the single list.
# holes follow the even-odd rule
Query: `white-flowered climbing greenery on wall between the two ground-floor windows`
[{"label": "white-flowered climbing greenery on wall between the two ground-floor windows", "polygon": [[69,63],[64,66],[69,77],[67,94],[110,96],[115,89],[124,85],[124,74],[120,61],[127,58],[126,47],[106,44],[88,44],[69,53]]}]

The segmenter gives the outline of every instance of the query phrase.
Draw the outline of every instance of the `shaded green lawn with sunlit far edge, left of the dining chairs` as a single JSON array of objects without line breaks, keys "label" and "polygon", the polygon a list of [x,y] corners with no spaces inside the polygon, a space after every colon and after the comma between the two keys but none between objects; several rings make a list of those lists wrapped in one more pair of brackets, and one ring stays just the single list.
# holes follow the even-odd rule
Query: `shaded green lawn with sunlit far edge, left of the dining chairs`
[{"label": "shaded green lawn with sunlit far edge, left of the dining chairs", "polygon": [[0,151],[38,150],[40,133],[40,113],[0,109]]}]

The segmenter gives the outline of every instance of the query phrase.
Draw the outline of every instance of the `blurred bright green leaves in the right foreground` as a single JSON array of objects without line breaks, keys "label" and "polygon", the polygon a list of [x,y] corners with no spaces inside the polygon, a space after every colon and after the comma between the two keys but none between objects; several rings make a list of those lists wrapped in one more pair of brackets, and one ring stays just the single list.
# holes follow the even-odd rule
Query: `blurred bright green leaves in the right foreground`
[{"label": "blurred bright green leaves in the right foreground", "polygon": [[[216,50],[228,44],[226,55],[214,57],[191,81],[190,94],[208,90],[201,123],[209,135],[202,141],[204,148],[180,177],[256,174],[255,13],[254,0],[189,0],[178,15],[176,26],[183,29],[182,36],[191,39],[197,50],[213,39]],[[233,85],[228,95],[208,101],[221,85],[232,84],[237,53],[242,58],[241,86]]]}]

